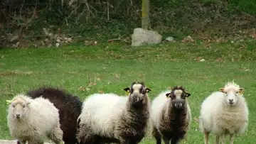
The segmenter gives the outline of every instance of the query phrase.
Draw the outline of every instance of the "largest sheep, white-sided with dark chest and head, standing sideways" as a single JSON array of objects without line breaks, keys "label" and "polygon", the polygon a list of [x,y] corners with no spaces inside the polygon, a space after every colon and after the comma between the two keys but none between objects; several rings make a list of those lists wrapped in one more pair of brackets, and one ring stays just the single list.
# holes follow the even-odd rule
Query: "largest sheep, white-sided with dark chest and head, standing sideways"
[{"label": "largest sheep, white-sided with dark chest and head, standing sideways", "polygon": [[82,104],[77,138],[82,143],[137,144],[146,133],[151,89],[144,82],[133,82],[117,94],[92,94]]}]

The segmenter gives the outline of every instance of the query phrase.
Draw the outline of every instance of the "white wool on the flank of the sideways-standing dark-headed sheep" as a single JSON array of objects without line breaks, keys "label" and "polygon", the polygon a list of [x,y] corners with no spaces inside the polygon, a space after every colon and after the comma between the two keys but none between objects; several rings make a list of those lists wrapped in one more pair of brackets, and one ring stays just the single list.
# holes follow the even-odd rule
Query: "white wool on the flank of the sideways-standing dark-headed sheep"
[{"label": "white wool on the flank of the sideways-standing dark-headed sheep", "polygon": [[92,94],[82,104],[80,123],[87,123],[94,133],[114,135],[113,126],[126,109],[128,96]]}]

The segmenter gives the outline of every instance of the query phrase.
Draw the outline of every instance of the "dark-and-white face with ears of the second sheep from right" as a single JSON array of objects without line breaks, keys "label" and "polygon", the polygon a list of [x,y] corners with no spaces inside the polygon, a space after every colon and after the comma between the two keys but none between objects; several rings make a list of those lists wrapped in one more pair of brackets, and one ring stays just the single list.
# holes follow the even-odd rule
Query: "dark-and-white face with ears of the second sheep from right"
[{"label": "dark-and-white face with ears of the second sheep from right", "polygon": [[175,109],[183,109],[185,106],[186,97],[190,96],[183,87],[174,87],[170,93],[166,94],[167,98],[171,98],[171,104]]}]

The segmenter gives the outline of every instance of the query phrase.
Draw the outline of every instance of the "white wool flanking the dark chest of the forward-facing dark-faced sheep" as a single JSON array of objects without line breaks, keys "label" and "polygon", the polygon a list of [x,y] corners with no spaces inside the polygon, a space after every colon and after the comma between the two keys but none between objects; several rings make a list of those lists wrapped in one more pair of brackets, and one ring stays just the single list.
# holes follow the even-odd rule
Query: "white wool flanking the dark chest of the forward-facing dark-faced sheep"
[{"label": "white wool flanking the dark chest of the forward-facing dark-faced sheep", "polygon": [[[159,128],[159,124],[161,121],[161,114],[162,114],[161,111],[163,109],[168,109],[169,104],[171,104],[171,99],[166,98],[166,94],[170,93],[170,92],[171,91],[161,92],[151,102],[151,109],[150,109],[151,126]],[[186,99],[186,106],[187,106],[187,110],[188,110],[188,114],[186,116],[188,118],[188,117],[191,117],[191,109],[188,105],[187,99]],[[190,118],[190,121],[191,121],[191,118]]]}]

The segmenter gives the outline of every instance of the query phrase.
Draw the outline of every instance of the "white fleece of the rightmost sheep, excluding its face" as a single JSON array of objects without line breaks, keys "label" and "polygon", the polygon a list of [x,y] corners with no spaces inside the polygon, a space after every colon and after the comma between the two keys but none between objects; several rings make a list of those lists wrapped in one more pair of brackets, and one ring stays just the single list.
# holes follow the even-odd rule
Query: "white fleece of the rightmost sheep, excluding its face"
[{"label": "white fleece of the rightmost sheep, excluding its face", "polygon": [[[238,91],[239,86],[226,84],[225,90],[230,89]],[[245,132],[249,111],[244,96],[240,94],[236,96],[235,106],[229,106],[226,101],[223,92],[213,92],[203,101],[199,116],[199,128],[202,132],[204,128],[218,135],[223,135],[225,130],[230,134]]]}]

